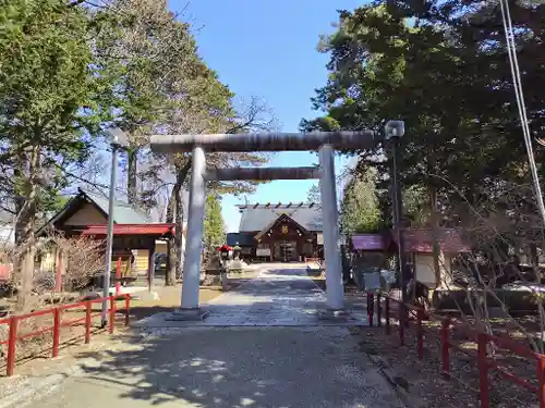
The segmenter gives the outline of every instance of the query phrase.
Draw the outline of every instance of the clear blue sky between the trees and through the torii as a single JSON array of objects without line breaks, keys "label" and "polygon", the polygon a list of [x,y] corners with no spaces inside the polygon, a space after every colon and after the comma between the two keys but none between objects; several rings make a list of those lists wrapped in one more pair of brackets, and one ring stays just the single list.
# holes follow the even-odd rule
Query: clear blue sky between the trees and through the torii
[{"label": "clear blue sky between the trees and through the torii", "polygon": [[[282,132],[296,132],[311,109],[314,89],[325,85],[328,57],[316,51],[320,34],[334,30],[338,9],[353,10],[355,0],[170,0],[173,11],[196,27],[199,54],[221,82],[242,98],[257,96],[274,110]],[[187,7],[186,7],[187,5]],[[267,165],[300,166],[317,162],[310,152],[280,152]],[[337,159],[339,169],[346,160]],[[247,195],[250,202],[304,201],[313,181],[275,181]],[[237,203],[244,197],[222,200],[227,231],[235,232]]]}]

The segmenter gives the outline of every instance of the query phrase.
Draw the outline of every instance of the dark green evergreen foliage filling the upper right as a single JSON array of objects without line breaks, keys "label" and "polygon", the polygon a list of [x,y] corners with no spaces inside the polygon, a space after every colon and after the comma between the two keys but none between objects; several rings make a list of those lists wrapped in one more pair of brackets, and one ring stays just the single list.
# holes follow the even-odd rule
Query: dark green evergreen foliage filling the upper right
[{"label": "dark green evergreen foliage filling the upper right", "polygon": [[[545,7],[511,2],[528,115],[543,137]],[[313,99],[326,115],[303,129],[382,131],[405,121],[401,181],[437,189],[443,223],[457,224],[468,202],[505,194],[505,181],[528,182],[499,7],[477,1],[376,1],[340,12],[324,37],[327,85]],[[362,171],[378,171],[387,194],[388,149],[359,151]],[[536,149],[543,161],[543,148]],[[420,188],[419,187],[419,188]],[[386,199],[382,199],[386,202]]]}]

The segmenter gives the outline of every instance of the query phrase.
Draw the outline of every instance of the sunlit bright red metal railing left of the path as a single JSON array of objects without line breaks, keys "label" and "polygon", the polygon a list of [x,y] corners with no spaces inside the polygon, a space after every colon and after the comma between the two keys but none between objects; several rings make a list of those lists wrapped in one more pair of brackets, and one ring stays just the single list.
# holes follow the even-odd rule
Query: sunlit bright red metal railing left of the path
[{"label": "sunlit bright red metal railing left of the path", "polygon": [[[9,326],[9,336],[7,341],[0,342],[0,345],[8,345],[7,353],[7,375],[13,375],[15,369],[15,357],[16,357],[16,344],[17,341],[22,341],[29,337],[36,337],[44,333],[51,332],[52,333],[52,347],[51,347],[51,357],[59,356],[59,347],[61,344],[61,327],[72,326],[78,323],[85,324],[85,343],[90,342],[90,334],[93,329],[93,318],[101,317],[102,312],[93,313],[93,304],[98,304],[102,301],[109,301],[109,317],[108,317],[108,331],[109,333],[113,333],[116,327],[116,301],[123,300],[124,301],[124,323],[129,325],[129,317],[130,317],[130,307],[131,307],[131,295],[114,295],[109,297],[102,297],[98,299],[85,300],[77,304],[69,304],[61,305],[50,309],[37,310],[32,313],[26,314],[17,314],[12,316],[7,319],[0,319],[0,324],[7,324]],[[66,310],[73,310],[80,307],[85,307],[85,317],[78,318],[75,320],[62,320],[62,314]],[[28,333],[20,333],[20,323],[24,320],[28,320],[32,318],[37,318],[41,316],[52,316],[52,325],[43,327]]]}]

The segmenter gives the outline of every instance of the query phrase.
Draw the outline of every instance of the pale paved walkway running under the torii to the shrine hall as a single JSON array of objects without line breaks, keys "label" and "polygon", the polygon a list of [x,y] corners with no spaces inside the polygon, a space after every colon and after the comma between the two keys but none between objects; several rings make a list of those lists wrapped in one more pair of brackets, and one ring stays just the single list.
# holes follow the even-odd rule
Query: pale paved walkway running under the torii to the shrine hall
[{"label": "pale paved walkway running under the torii to the shrine hall", "polygon": [[326,309],[326,295],[302,264],[291,268],[268,265],[261,274],[232,292],[228,292],[202,308],[209,312],[204,321],[169,320],[170,312],[142,320],[138,326],[157,332],[159,329],[187,326],[316,326],[368,325],[366,310],[351,310],[344,322],[318,319]]}]

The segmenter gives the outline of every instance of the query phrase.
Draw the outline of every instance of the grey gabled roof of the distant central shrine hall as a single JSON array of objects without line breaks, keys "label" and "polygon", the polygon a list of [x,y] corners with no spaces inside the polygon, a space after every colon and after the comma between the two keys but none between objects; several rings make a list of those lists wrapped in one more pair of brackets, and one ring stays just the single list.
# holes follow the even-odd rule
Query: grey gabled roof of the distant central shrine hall
[{"label": "grey gabled roof of the distant central shrine hall", "polygon": [[306,231],[322,232],[322,207],[317,203],[249,203],[238,206],[242,212],[240,232],[263,231],[282,214]]}]

